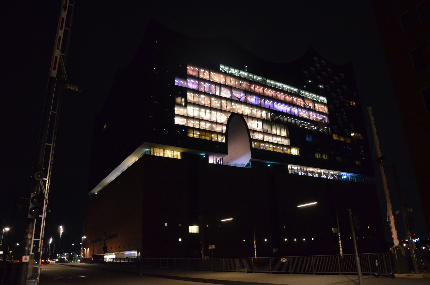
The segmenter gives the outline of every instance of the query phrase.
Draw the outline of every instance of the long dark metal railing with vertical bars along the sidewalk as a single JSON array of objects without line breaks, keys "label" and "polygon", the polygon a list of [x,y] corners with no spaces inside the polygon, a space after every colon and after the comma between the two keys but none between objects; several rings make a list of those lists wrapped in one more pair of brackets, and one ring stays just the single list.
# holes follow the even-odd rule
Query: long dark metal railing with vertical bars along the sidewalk
[{"label": "long dark metal railing with vertical bars along the sidewalk", "polygon": [[[359,254],[364,274],[393,273],[390,253]],[[356,274],[354,254],[247,258],[83,258],[83,263],[124,263],[166,269],[252,273]]]}]

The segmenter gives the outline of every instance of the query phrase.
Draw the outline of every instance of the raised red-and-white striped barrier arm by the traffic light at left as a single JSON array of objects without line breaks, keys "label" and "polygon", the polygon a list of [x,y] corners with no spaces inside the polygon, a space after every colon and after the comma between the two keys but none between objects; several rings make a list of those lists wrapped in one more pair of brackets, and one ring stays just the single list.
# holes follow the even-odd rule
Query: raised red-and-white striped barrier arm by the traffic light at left
[{"label": "raised red-and-white striped barrier arm by the traffic light at left", "polygon": [[[43,160],[45,158],[46,139],[48,137],[48,130],[49,130],[49,120],[51,118],[52,102],[54,99],[55,85],[57,83],[58,64],[62,60],[60,50],[61,50],[61,43],[62,43],[63,34],[64,34],[64,28],[65,28],[64,25],[65,25],[65,20],[67,16],[67,8],[68,8],[68,0],[63,0],[61,5],[60,18],[58,21],[57,34],[55,37],[54,52],[52,54],[48,88],[46,90],[45,104],[43,107],[42,123],[41,123],[40,133],[39,133],[39,141],[37,143],[36,161],[33,166],[34,175],[32,176],[33,181],[31,184],[31,194],[40,193],[40,184],[41,184],[41,181],[43,181],[43,176],[44,176]],[[43,196],[46,199],[45,193],[43,193]],[[25,236],[24,236],[24,247],[22,251],[22,262],[19,268],[18,284],[20,285],[25,285],[27,280],[28,266],[29,266],[28,257],[29,257],[29,253],[31,252],[32,243],[34,241],[33,235],[34,235],[34,227],[35,227],[36,219],[34,219],[33,216],[31,215],[32,213],[31,205],[32,204],[30,201],[30,206],[28,210],[29,217],[27,219],[27,226],[25,229]],[[43,202],[43,206],[45,207],[45,201]],[[38,216],[40,216],[40,214],[42,213],[39,213]]]}]

